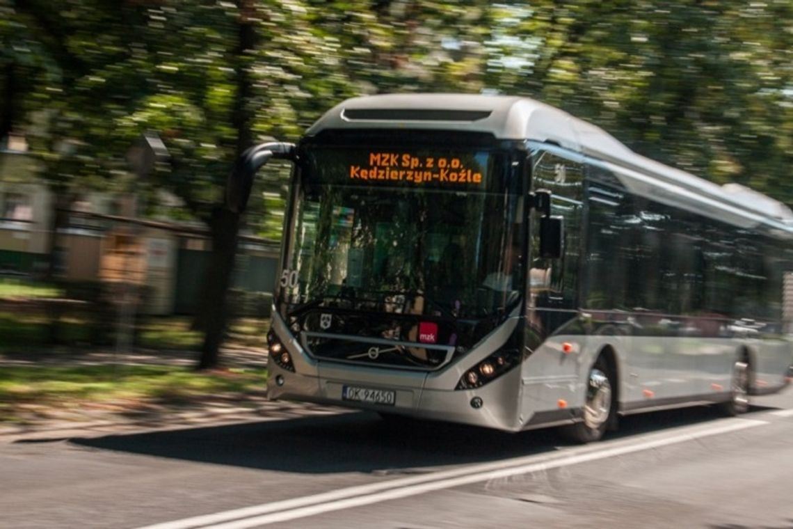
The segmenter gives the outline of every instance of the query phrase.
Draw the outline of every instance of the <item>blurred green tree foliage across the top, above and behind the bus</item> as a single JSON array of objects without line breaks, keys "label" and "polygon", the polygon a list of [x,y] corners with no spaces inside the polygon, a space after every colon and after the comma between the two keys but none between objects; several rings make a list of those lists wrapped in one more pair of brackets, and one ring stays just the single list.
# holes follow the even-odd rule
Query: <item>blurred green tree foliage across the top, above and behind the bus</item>
[{"label": "blurred green tree foliage across the top, above and behind the bus", "polygon": [[[486,89],[561,105],[646,155],[793,201],[784,0],[29,0],[0,10],[7,108],[15,127],[27,125],[44,177],[64,188],[134,185],[98,176],[117,176],[129,146],[154,130],[174,163],[150,185],[201,216],[237,151],[236,112],[251,142],[295,140],[354,95]],[[245,24],[254,38],[241,49]],[[240,75],[250,94],[238,93]],[[270,184],[283,197],[284,179]],[[263,222],[278,234],[277,215]]]}]

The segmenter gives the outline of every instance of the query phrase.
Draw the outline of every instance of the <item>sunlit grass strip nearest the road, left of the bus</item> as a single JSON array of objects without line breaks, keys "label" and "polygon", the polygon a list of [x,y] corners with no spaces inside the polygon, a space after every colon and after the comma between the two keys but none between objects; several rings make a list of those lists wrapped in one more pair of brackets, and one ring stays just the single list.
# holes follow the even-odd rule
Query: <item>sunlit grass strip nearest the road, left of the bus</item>
[{"label": "sunlit grass strip nearest the road, left of the bus", "polygon": [[134,412],[189,406],[207,396],[262,391],[266,370],[197,372],[178,366],[4,366],[0,422],[24,422],[31,409],[115,406]]}]

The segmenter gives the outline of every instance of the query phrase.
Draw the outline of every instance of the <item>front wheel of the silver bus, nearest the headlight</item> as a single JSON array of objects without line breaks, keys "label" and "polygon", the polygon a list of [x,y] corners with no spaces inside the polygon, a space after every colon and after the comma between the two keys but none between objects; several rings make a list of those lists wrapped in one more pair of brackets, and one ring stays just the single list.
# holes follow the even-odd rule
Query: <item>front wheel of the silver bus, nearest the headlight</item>
[{"label": "front wheel of the silver bus, nearest the headlight", "polygon": [[589,370],[587,395],[581,420],[559,429],[559,433],[574,443],[592,443],[600,440],[614,422],[615,378],[603,358],[598,358]]}]

